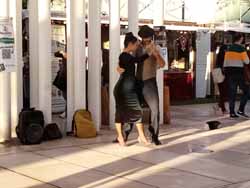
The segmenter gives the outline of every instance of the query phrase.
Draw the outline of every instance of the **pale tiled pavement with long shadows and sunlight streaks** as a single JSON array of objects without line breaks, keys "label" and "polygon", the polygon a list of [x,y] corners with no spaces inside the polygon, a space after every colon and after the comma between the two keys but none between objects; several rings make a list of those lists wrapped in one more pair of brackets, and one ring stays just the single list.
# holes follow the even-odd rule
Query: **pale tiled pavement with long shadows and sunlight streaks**
[{"label": "pale tiled pavement with long shadows and sunlight streaks", "polygon": [[[212,104],[171,111],[160,147],[138,144],[136,132],[120,147],[108,130],[95,139],[0,144],[0,187],[250,188],[250,121],[215,115]],[[205,122],[213,119],[222,126],[208,131]]]}]

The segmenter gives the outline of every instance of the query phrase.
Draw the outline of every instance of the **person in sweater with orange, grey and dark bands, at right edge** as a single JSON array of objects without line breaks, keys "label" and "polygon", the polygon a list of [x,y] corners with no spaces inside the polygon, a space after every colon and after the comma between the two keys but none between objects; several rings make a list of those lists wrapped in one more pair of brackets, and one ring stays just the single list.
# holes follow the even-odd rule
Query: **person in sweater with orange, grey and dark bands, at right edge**
[{"label": "person in sweater with orange, grey and dark bands, at right edge", "polygon": [[[245,84],[244,80],[244,64],[249,64],[249,58],[246,49],[242,46],[243,40],[244,37],[241,33],[235,33],[233,36],[234,44],[229,46],[225,53],[224,71],[229,86],[229,109],[231,118],[238,118],[239,115],[249,118],[249,116],[245,114],[245,106],[249,97],[249,87]],[[235,100],[238,86],[243,94],[240,99],[239,110],[236,114]]]}]

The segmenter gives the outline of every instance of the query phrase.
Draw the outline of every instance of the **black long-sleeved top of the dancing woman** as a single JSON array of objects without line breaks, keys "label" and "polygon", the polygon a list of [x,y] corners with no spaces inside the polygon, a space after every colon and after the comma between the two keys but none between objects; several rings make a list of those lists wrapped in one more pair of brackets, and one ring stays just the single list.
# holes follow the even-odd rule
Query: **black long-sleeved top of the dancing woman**
[{"label": "black long-sleeved top of the dancing woman", "polygon": [[148,54],[144,54],[141,57],[134,57],[127,52],[122,52],[119,57],[119,66],[125,69],[122,75],[135,77],[135,64],[143,62],[148,57]]}]

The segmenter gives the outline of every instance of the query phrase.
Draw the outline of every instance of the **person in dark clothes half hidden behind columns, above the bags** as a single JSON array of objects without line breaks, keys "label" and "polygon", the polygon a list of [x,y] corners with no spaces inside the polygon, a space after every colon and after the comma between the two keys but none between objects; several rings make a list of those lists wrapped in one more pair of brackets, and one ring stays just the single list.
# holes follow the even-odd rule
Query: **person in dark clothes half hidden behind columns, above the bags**
[{"label": "person in dark clothes half hidden behind columns, above the bags", "polygon": [[63,51],[58,51],[55,54],[55,57],[61,58],[59,61],[59,71],[57,72],[57,76],[53,82],[53,84],[62,91],[62,96],[66,102],[65,112],[63,112],[60,117],[67,117],[67,53]]}]

